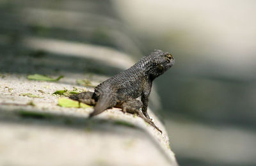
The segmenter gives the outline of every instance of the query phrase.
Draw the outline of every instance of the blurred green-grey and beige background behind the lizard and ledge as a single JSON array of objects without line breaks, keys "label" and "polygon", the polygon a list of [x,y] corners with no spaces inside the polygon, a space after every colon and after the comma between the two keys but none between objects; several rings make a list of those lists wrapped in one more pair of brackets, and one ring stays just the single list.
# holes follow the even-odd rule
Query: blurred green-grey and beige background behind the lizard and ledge
[{"label": "blurred green-grey and beige background behind the lizard and ledge", "polygon": [[[75,57],[66,43],[118,50],[134,61],[154,49],[171,52],[175,66],[155,81],[156,114],[179,164],[256,165],[255,15],[252,0],[1,0],[0,71],[84,72],[68,64]],[[22,60],[45,55],[45,64]],[[90,70],[120,72],[100,67]]]}]

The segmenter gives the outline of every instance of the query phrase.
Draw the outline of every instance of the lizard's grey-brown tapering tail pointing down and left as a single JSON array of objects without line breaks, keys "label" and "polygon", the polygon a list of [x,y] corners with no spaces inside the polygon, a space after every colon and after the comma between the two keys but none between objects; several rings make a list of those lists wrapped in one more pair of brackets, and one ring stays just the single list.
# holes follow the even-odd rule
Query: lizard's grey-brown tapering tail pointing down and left
[{"label": "lizard's grey-brown tapering tail pointing down and left", "polygon": [[114,107],[115,105],[116,99],[113,94],[102,94],[89,117],[96,116],[97,114],[100,114],[104,110]]}]

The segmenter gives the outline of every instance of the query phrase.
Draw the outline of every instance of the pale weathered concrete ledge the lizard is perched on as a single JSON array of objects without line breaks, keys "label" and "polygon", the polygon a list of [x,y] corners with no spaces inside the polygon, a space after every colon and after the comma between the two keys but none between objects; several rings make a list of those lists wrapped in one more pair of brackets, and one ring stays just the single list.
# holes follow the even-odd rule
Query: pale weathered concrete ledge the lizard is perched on
[{"label": "pale weathered concrete ledge the lizard is perched on", "polygon": [[[151,111],[163,135],[140,117],[119,109],[89,120],[91,108],[58,106],[60,96],[52,95],[54,91],[84,89],[72,81],[65,77],[60,82],[39,82],[25,75],[4,74],[0,81],[0,165],[177,165],[168,135]],[[31,101],[35,106],[26,105]]]}]

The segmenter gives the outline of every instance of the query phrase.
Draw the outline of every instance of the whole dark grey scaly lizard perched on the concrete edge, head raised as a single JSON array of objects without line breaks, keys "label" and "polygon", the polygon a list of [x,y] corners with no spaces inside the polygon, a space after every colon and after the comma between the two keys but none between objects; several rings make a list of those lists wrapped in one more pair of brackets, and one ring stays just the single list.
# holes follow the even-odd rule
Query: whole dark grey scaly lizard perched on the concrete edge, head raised
[{"label": "whole dark grey scaly lizard perched on the concrete edge, head raised", "polygon": [[[131,68],[111,77],[95,87],[94,92],[85,91],[69,98],[88,105],[95,105],[89,117],[96,116],[112,107],[123,112],[138,114],[145,122],[157,128],[147,112],[152,82],[174,64],[169,52],[154,50],[144,56]],[[141,96],[141,100],[136,98]]]}]

